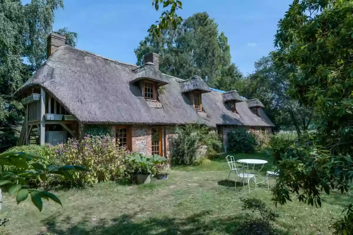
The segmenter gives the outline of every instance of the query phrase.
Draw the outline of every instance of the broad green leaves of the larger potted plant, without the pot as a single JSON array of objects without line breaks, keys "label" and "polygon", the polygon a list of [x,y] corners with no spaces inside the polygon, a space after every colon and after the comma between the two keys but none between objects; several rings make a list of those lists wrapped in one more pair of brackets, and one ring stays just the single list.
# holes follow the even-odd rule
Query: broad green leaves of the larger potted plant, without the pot
[{"label": "broad green leaves of the larger potted plant, without the pot", "polygon": [[130,169],[136,174],[152,174],[157,172],[157,166],[160,163],[166,163],[167,159],[158,154],[144,156],[143,154],[134,153],[126,159],[130,163]]}]

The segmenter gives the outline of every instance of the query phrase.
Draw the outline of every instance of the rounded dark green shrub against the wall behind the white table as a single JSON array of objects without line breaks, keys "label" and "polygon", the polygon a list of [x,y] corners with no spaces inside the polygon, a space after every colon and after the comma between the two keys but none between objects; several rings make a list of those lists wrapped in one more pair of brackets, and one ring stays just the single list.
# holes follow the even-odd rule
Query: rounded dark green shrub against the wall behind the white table
[{"label": "rounded dark green shrub against the wall behind the white table", "polygon": [[232,153],[253,153],[258,147],[256,136],[245,128],[237,128],[227,134],[227,151]]}]

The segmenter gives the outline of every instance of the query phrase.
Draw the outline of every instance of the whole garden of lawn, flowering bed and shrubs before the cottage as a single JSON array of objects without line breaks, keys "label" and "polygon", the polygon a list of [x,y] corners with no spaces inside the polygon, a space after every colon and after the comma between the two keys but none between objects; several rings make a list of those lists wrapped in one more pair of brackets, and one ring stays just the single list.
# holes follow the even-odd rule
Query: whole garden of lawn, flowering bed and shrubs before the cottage
[{"label": "whole garden of lawn, flowering bed and shrubs before the cottage", "polygon": [[[6,226],[1,227],[2,234],[332,234],[331,225],[353,199],[350,193],[331,191],[315,207],[290,194],[293,202],[275,206],[271,187],[277,185],[276,177],[270,178],[270,188],[259,184],[255,190],[250,183],[250,192],[239,182],[234,187],[233,173],[228,180],[227,154],[235,160],[268,161],[261,171],[264,176],[277,169],[273,164],[276,151],[268,150],[293,141],[292,135],[270,138],[239,128],[227,138],[228,150],[238,154],[226,154],[221,152],[219,136],[204,126],[178,126],[175,132],[172,168],[164,157],[115,148],[108,135],[88,135],[58,146],[9,149],[8,153],[44,156],[28,160],[28,168],[39,168],[36,163],[40,163],[43,169],[56,166],[58,172],[28,180],[23,188],[34,190],[29,192],[31,200],[24,198],[18,204],[18,197],[10,194],[17,192],[18,196],[19,188],[3,193]],[[201,146],[207,146],[207,156],[198,154]],[[73,169],[76,165],[84,169]],[[17,175],[23,172],[16,166],[7,167]],[[139,180],[138,175],[148,177]],[[32,197],[36,191],[41,196],[47,191],[55,194],[42,196],[52,200],[43,201],[41,211]]]}]

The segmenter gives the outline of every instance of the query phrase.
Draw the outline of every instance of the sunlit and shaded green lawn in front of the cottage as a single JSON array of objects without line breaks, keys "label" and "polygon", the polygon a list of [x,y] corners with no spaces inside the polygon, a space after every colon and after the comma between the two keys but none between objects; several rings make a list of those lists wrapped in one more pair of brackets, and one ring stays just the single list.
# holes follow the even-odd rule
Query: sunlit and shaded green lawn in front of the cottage
[{"label": "sunlit and shaded green lawn in front of the cottage", "polygon": [[[269,168],[270,163],[263,172]],[[149,185],[122,181],[60,191],[56,194],[63,208],[44,201],[42,212],[29,199],[17,205],[5,194],[1,213],[10,221],[0,234],[234,234],[244,218],[259,216],[241,209],[241,197],[261,198],[272,206],[279,214],[274,223],[279,234],[331,234],[329,225],[353,200],[353,195],[332,193],[319,209],[295,198],[275,208],[267,187],[255,191],[251,184],[251,193],[247,187],[235,189],[234,182],[228,183],[227,169],[227,163],[217,159],[204,166],[174,168],[168,180],[154,179]]]}]

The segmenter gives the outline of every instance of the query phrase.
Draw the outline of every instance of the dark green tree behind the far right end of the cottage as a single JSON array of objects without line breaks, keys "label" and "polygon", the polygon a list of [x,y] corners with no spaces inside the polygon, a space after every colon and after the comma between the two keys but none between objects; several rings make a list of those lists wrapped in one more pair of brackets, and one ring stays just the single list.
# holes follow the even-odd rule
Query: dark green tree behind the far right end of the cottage
[{"label": "dark green tree behind the far right end of the cottage", "polygon": [[290,97],[288,75],[299,73],[281,56],[281,52],[273,51],[255,62],[255,72],[237,84],[238,92],[247,98],[261,97],[276,129],[294,129],[300,136],[311,124],[312,111]]}]

